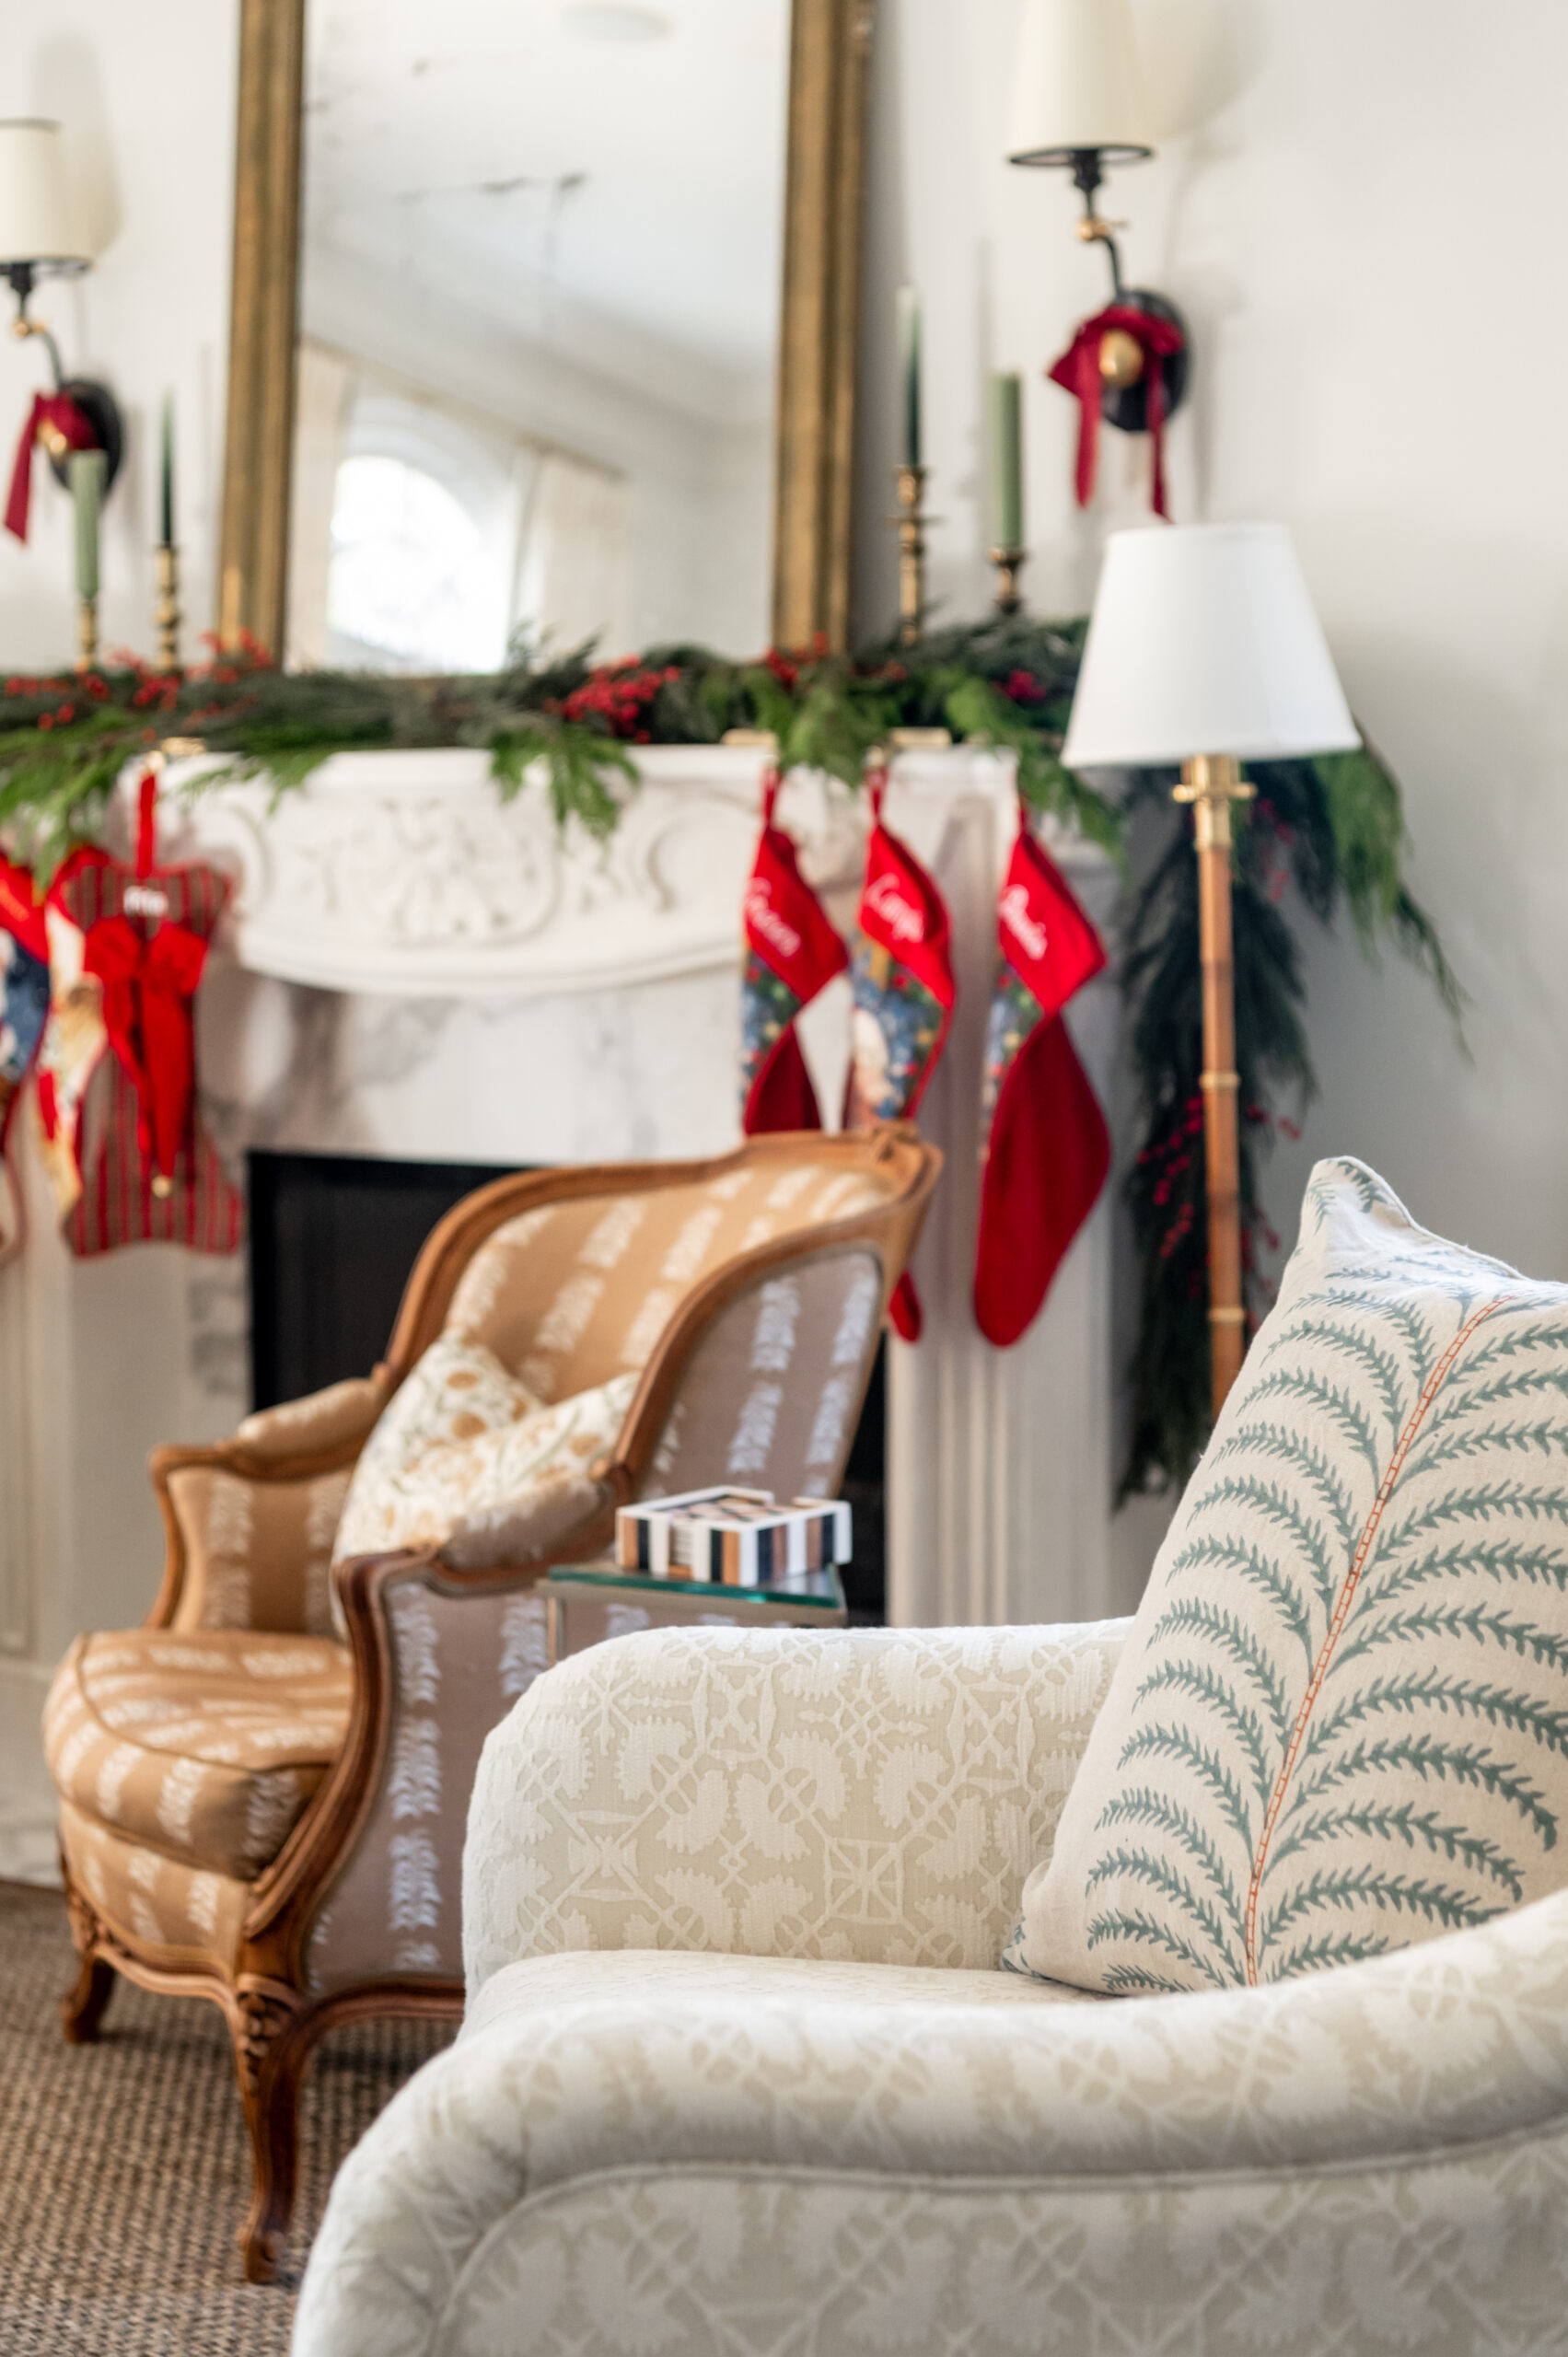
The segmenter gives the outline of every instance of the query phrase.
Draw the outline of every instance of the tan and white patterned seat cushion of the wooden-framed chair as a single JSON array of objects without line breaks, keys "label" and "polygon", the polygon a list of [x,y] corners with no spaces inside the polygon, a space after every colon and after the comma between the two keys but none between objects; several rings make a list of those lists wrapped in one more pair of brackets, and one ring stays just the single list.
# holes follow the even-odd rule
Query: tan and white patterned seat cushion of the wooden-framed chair
[{"label": "tan and white patterned seat cushion of the wooden-framed chair", "polygon": [[349,1655],[332,1638],[83,1636],[50,1688],[45,1756],[83,1815],[250,1881],[342,1751],[349,1695]]}]

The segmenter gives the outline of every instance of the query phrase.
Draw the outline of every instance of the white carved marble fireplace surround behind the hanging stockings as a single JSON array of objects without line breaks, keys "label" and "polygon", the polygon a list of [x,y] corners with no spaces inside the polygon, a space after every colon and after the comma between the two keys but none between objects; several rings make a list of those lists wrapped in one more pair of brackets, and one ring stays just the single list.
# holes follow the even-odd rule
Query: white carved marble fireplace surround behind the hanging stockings
[{"label": "white carved marble fireplace surround behind the hanging stockings", "polygon": [[[505,801],[483,752],[340,754],[274,801],[167,773],[160,858],[236,879],[198,1002],[203,1105],[226,1155],[271,1146],[448,1162],[719,1153],[738,1134],[740,896],[764,754],[648,747],[608,844],[556,832],[540,780]],[[849,931],[863,808],[790,778],[780,823]],[[1111,1556],[1111,1207],[1045,1315],[990,1351],[969,1306],[995,896],[1012,766],[964,747],[894,766],[887,823],[934,870],[960,1004],[922,1129],[946,1153],[915,1277],[917,1348],[889,1372],[889,1617],[1080,1619],[1122,1610]],[[1052,837],[1101,924],[1115,877]],[[1108,1096],[1115,988],[1073,1006]],[[802,1037],[842,1101],[849,985]],[[75,1629],[139,1619],[160,1534],[146,1450],[229,1431],[245,1400],[245,1263],[141,1244],[68,1259],[31,1141],[31,1233],[0,1270],[0,1874],[50,1855],[35,1758],[42,1681]]]}]

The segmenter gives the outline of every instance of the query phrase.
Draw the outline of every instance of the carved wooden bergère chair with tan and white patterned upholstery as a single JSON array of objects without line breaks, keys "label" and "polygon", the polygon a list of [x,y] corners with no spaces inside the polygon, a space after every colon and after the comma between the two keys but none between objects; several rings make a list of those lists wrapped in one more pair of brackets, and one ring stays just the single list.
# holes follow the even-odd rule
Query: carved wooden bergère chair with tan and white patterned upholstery
[{"label": "carved wooden berg\u00e8re chair with tan and white patterned upholstery", "polygon": [[[882,1129],[500,1178],[431,1233],[370,1379],[153,1454],[158,1603],[144,1629],[78,1638],[45,1711],[83,1959],[64,2022],[90,2041],[116,1973],[224,2008],[252,2282],[288,2232],[316,2039],[462,2011],[469,1787],[547,1666],[542,1572],[601,1553],[632,1497],[837,1490],[938,1167]],[[618,1438],[514,1501],[490,1549],[332,1563],[356,1459],[439,1336],[486,1346],[542,1402],[634,1374]]]}]

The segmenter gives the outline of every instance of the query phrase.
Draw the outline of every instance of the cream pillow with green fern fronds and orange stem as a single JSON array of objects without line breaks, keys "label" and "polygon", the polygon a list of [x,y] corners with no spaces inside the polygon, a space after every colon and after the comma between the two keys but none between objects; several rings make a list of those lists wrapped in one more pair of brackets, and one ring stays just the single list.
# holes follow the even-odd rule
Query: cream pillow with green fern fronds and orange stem
[{"label": "cream pillow with green fern fronds and orange stem", "polygon": [[1568,1883],[1568,1287],[1320,1162],[1007,1961],[1285,1980]]}]

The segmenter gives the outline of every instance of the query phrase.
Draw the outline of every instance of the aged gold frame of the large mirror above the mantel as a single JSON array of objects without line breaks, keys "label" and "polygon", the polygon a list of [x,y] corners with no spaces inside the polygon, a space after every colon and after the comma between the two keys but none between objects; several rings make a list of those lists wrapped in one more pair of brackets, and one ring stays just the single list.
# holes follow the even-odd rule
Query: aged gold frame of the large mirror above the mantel
[{"label": "aged gold frame of the large mirror above the mantel", "polygon": [[[875,0],[792,0],[773,643],[849,639],[865,92]],[[219,636],[283,648],[307,0],[241,0]],[[733,653],[733,651],[731,651]]]}]

